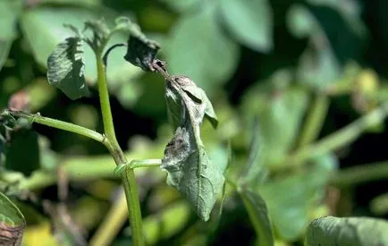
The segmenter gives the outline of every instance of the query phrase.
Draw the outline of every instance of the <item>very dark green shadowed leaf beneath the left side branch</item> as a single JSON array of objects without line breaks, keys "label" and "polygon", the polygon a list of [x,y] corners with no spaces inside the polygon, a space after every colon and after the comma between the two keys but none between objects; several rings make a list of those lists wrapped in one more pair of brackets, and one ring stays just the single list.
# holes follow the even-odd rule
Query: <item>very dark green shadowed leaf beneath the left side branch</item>
[{"label": "very dark green shadowed leaf beneath the left side branch", "polygon": [[13,131],[11,142],[5,148],[5,156],[7,169],[30,176],[38,170],[41,160],[37,132],[31,129]]}]

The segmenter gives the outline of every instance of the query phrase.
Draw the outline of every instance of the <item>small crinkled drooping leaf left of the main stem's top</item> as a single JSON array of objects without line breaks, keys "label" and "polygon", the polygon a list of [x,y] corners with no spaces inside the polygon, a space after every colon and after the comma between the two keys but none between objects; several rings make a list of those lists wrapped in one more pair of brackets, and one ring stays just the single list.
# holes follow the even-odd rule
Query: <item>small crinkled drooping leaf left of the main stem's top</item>
[{"label": "small crinkled drooping leaf left of the main stem's top", "polygon": [[80,38],[66,38],[55,47],[47,59],[47,80],[71,99],[88,95],[85,81],[83,41]]}]

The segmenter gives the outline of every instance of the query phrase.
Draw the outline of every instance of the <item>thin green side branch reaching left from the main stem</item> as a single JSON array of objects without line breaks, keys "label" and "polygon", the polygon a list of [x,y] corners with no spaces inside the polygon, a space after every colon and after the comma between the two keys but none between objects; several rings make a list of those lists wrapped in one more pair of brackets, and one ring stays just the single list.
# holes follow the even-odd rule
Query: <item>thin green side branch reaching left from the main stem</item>
[{"label": "thin green side branch reaching left from the main stem", "polygon": [[98,133],[97,131],[92,131],[88,128],[82,127],[80,125],[76,125],[73,123],[66,123],[52,118],[43,117],[38,114],[32,115],[21,111],[11,111],[11,110],[8,112],[15,117],[21,117],[21,118],[27,119],[32,123],[40,123],[63,131],[71,131],[71,132],[80,134],[82,136],[88,137],[89,139],[97,140],[105,144],[105,137],[102,134]]}]

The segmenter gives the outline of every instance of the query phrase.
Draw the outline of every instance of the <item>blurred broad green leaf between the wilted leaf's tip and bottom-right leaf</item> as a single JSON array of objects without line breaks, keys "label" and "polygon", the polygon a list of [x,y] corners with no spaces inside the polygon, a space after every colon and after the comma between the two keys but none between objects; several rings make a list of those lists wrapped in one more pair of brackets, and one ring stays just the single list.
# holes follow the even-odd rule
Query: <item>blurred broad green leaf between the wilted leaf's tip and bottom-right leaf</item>
[{"label": "blurred broad green leaf between the wilted leaf's tip and bottom-right leaf", "polygon": [[337,166],[333,156],[319,157],[307,170],[266,182],[258,191],[279,236],[297,239],[308,227],[308,213],[323,197],[325,183]]}]

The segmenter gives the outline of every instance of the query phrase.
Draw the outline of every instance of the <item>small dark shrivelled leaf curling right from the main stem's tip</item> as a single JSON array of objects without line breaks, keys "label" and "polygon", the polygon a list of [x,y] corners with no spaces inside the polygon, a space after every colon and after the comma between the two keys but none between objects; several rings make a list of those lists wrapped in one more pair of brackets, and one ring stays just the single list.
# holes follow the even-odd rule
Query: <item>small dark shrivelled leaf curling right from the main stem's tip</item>
[{"label": "small dark shrivelled leaf curling right from the main stem's tip", "polygon": [[124,59],[145,71],[152,71],[151,64],[155,60],[157,51],[160,49],[159,44],[147,38],[141,32],[139,26],[132,23],[128,18],[118,18],[116,23],[117,29],[130,32],[127,54],[124,55]]}]

